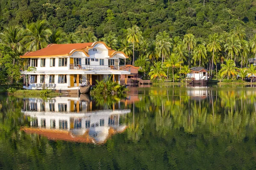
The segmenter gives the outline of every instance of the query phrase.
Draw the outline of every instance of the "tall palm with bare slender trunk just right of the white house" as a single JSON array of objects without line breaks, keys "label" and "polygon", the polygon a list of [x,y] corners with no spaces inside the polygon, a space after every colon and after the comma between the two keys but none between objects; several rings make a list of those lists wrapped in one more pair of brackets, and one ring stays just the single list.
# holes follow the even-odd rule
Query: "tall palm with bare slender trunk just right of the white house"
[{"label": "tall palm with bare slender trunk just right of the white house", "polygon": [[132,26],[131,28],[127,29],[127,41],[133,44],[133,65],[134,65],[134,45],[135,43],[139,43],[142,37],[142,32],[140,28],[136,25]]}]

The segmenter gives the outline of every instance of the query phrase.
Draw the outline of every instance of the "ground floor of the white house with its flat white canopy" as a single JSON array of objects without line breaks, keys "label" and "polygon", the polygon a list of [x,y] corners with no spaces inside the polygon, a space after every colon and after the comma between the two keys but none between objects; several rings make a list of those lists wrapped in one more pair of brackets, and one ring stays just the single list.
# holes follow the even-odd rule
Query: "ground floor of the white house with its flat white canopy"
[{"label": "ground floor of the white house with its flat white canopy", "polygon": [[23,73],[23,88],[29,90],[80,90],[81,86],[95,85],[96,80],[111,79],[120,83],[121,75],[130,74],[128,71],[119,70],[96,70],[96,71],[34,71]]}]

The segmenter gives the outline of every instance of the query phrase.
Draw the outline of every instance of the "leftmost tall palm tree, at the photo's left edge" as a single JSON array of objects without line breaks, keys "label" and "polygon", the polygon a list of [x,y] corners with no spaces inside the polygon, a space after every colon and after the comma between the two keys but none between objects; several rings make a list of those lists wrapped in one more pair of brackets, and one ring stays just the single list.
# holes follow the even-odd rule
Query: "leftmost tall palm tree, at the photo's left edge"
[{"label": "leftmost tall palm tree, at the photo's left edge", "polygon": [[[4,32],[0,33],[0,40],[1,42],[7,44],[9,47],[12,48],[17,56],[22,51],[21,40],[23,39],[23,29],[19,26],[10,26],[4,28]],[[15,65],[15,58],[13,58],[13,65]]]}]

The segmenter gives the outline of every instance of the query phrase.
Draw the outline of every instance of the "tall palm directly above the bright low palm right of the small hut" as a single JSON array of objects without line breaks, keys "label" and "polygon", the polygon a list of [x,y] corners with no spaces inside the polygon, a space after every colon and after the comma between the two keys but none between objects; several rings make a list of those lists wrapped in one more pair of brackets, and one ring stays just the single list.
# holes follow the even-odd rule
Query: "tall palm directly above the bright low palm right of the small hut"
[{"label": "tall palm directly above the bright low palm right of the small hut", "polygon": [[234,56],[234,62],[236,62],[236,56],[239,54],[241,49],[241,41],[239,38],[235,36],[231,36],[227,39],[227,44],[224,45],[225,50],[228,51],[228,56],[232,57]]}]

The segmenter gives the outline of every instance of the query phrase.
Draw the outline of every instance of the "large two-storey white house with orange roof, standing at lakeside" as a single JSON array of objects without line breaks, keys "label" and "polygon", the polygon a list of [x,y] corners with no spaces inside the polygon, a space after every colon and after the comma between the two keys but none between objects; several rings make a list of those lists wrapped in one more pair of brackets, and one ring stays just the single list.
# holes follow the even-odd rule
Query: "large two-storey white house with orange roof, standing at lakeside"
[{"label": "large two-storey white house with orange roof, standing at lakeside", "polygon": [[34,52],[27,52],[28,67],[36,71],[23,71],[23,88],[79,91],[83,85],[95,85],[96,80],[108,79],[120,82],[120,75],[131,74],[119,65],[120,59],[128,58],[122,51],[109,48],[104,42],[76,44],[49,44]]}]

